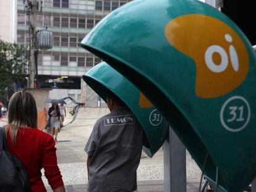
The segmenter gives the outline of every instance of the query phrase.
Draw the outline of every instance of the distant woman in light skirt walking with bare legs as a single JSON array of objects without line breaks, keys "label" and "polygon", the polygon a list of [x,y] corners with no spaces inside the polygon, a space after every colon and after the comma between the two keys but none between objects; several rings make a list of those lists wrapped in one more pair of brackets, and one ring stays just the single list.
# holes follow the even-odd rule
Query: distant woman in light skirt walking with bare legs
[{"label": "distant woman in light skirt walking with bare legs", "polygon": [[59,111],[57,103],[53,103],[52,106],[49,107],[48,115],[51,121],[51,136],[54,136],[55,134],[55,141],[58,141],[58,132],[61,130],[61,125],[59,123],[61,112]]}]

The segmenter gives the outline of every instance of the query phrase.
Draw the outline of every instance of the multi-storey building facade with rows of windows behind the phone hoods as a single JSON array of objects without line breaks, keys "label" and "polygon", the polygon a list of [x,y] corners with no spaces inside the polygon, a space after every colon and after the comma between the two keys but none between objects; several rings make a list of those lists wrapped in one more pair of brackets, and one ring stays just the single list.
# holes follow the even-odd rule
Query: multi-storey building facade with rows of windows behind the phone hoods
[{"label": "multi-storey building facade with rows of windows behind the phone hoods", "polygon": [[[1,0],[4,1],[4,0]],[[85,35],[109,12],[131,0],[43,0],[38,1],[36,30],[53,32],[53,48],[39,51],[38,88],[54,88],[50,95],[80,98],[80,77],[101,62],[78,46]],[[23,0],[17,0],[17,42],[28,45],[31,16]],[[62,89],[62,90],[58,90]]]}]

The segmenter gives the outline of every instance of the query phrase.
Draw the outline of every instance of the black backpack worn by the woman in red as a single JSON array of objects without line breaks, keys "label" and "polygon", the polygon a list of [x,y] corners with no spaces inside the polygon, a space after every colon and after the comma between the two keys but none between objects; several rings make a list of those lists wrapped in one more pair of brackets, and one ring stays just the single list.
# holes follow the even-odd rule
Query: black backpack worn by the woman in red
[{"label": "black backpack worn by the woman in red", "polygon": [[8,151],[6,134],[0,127],[0,192],[7,191],[31,191],[30,180],[19,159]]}]

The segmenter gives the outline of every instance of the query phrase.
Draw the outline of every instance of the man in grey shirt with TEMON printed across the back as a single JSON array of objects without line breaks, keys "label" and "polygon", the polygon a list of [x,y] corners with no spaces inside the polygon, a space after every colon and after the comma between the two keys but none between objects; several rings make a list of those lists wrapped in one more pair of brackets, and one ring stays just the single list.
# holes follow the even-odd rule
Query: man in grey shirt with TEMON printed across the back
[{"label": "man in grey shirt with TEMON printed across the back", "polygon": [[89,192],[137,190],[143,132],[127,106],[109,92],[111,111],[98,119],[85,146]]}]

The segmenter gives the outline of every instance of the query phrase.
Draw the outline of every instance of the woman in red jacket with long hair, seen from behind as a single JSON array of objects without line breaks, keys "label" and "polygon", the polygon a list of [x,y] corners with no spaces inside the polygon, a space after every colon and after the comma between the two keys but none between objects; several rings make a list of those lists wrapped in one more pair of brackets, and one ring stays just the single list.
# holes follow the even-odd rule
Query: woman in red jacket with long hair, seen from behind
[{"label": "woman in red jacket with long hair, seen from behind", "polygon": [[31,191],[45,192],[41,169],[54,192],[65,191],[57,164],[55,141],[37,129],[36,102],[25,90],[14,93],[9,102],[7,143],[9,151],[19,158],[30,178]]}]

